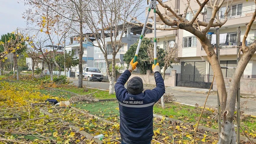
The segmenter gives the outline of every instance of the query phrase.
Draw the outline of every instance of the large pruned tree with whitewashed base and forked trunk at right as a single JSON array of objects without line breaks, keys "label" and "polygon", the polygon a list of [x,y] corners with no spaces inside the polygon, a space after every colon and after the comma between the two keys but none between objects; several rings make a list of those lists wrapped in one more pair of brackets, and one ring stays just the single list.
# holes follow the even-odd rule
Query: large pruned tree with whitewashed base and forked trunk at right
[{"label": "large pruned tree with whitewashed base and forked trunk at right", "polygon": [[[173,7],[168,6],[166,3],[163,3],[160,0],[157,0],[157,1],[160,4],[158,5],[158,7],[163,7],[164,9],[164,13],[161,13],[158,7],[156,11],[156,13],[160,17],[160,20],[162,21],[161,24],[171,26],[168,28],[157,27],[157,29],[159,30],[183,29],[194,34],[202,44],[202,47],[204,48],[207,54],[207,58],[212,66],[212,70],[216,78],[216,84],[217,84],[218,93],[220,96],[221,109],[223,113],[222,132],[220,133],[220,139],[218,143],[219,144],[235,144],[236,135],[234,130],[233,119],[234,119],[234,111],[235,111],[235,104],[236,104],[236,91],[238,89],[238,84],[244,72],[244,69],[256,51],[256,41],[254,41],[249,46],[246,46],[246,37],[249,33],[250,28],[252,27],[252,23],[255,20],[256,9],[252,14],[251,20],[249,21],[249,23],[247,23],[247,29],[244,34],[242,46],[240,49],[243,52],[243,56],[236,67],[233,77],[230,80],[230,86],[227,93],[220,63],[218,62],[218,56],[216,55],[214,48],[211,45],[211,41],[206,37],[206,33],[211,27],[221,27],[227,22],[228,13],[231,10],[231,5],[233,3],[233,0],[231,1],[205,0],[205,1],[202,1],[202,3],[199,0],[197,0],[196,2],[199,8],[197,12],[193,14],[193,18],[191,20],[186,20],[187,10],[190,9],[192,11],[189,0],[187,0],[187,3],[185,4],[186,9],[183,14],[180,13],[179,9],[174,9]],[[254,1],[254,3],[256,3],[256,1]],[[198,19],[200,12],[202,11],[202,9],[205,7],[206,4],[207,6],[210,5],[210,7],[212,8],[212,14],[209,22],[203,22]],[[217,12],[219,11],[220,7],[223,7],[223,6],[226,7],[226,10],[224,12],[224,20],[221,20]],[[167,14],[167,11],[170,12],[171,15],[176,17],[176,20],[170,18]],[[139,22],[139,20],[137,20],[137,22]],[[135,24],[135,25],[141,26],[143,25],[143,23],[140,22],[140,24]],[[153,29],[151,27],[147,27],[147,28]]]}]

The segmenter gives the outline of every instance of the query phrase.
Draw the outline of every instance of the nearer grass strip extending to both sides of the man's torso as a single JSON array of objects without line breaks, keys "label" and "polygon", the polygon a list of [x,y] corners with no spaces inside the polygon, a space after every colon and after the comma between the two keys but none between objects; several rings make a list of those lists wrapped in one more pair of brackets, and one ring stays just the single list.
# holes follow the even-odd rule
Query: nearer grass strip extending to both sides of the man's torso
[{"label": "nearer grass strip extending to both sides of the man's torso", "polygon": [[[183,122],[197,123],[202,108],[182,105],[178,103],[165,103],[166,108],[162,109],[159,104],[155,104],[153,107],[154,114],[159,114],[165,117],[173,119],[179,119]],[[89,111],[94,115],[104,116],[119,116],[118,102],[91,102],[91,103],[79,103],[75,107]],[[215,119],[212,119],[215,114],[212,109],[205,109],[201,117],[200,125],[218,129],[218,123]],[[256,118],[245,117],[241,119],[242,127],[248,132],[248,135],[254,137],[256,134]],[[241,132],[241,131],[240,131]],[[254,137],[255,138],[255,137]]]}]

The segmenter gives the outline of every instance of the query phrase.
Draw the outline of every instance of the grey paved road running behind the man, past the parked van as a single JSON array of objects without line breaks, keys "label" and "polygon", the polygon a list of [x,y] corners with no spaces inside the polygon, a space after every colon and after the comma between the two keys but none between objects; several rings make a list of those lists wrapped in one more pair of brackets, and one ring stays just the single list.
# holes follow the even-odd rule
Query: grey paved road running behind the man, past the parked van
[{"label": "grey paved road running behind the man, past the parked van", "polygon": [[[70,81],[73,81],[74,85],[78,85],[78,79],[70,79]],[[99,88],[99,89],[105,89],[105,90],[109,89],[108,82],[88,82],[86,80],[83,80],[83,84],[91,88]],[[176,102],[190,104],[190,105],[195,105],[197,103],[199,106],[203,106],[205,103],[205,98],[207,94],[196,93],[194,89],[191,91],[189,90],[191,90],[191,88],[168,87],[166,88],[166,93],[172,93],[174,97],[177,99]],[[205,90],[202,89],[202,92],[204,91]],[[241,106],[247,107],[247,109],[241,108],[241,110],[244,111],[245,114],[256,116],[256,99],[255,98],[241,98],[240,101],[241,101]],[[247,101],[246,104],[242,104],[246,101]],[[217,95],[213,95],[213,94],[209,95],[206,103],[206,107],[209,107],[209,108],[217,107]]]}]

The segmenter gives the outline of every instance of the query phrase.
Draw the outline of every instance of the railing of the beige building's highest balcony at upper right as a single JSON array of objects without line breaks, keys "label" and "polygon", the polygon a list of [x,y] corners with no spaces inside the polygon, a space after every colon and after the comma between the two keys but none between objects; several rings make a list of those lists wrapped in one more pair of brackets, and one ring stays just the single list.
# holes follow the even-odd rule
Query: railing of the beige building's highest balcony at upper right
[{"label": "railing of the beige building's highest balcony at upper right", "polygon": [[[228,17],[228,20],[229,20],[229,19],[234,19],[234,18],[238,18],[238,17],[252,16],[254,11],[255,11],[254,5],[247,6],[247,7],[242,7],[241,11],[236,9],[235,12],[232,12],[232,10],[230,10],[230,12],[227,14],[227,17]],[[220,14],[220,12],[218,12],[218,14],[219,14],[220,21],[225,20],[224,14]],[[211,19],[211,16],[212,16],[212,14],[204,14],[203,21],[204,22],[209,22],[210,19]],[[214,20],[214,22],[216,22],[216,19]]]}]

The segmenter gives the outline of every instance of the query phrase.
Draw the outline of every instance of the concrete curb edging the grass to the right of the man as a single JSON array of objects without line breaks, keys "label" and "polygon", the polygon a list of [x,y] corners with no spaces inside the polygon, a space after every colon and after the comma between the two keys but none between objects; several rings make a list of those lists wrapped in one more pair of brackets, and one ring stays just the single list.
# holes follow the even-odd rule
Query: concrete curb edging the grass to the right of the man
[{"label": "concrete curb edging the grass to the right of the man", "polygon": [[[153,117],[157,117],[157,118],[160,118],[162,119],[163,116],[161,115],[157,115],[157,114],[153,114]],[[172,121],[172,122],[180,122],[180,123],[183,123],[183,124],[189,124],[191,126],[194,126],[195,124],[193,123],[190,123],[190,122],[183,122],[181,120],[177,120],[177,119],[172,119],[172,118],[169,118],[169,117],[165,117],[165,119],[169,120],[169,121]],[[204,126],[198,126],[199,129],[203,129],[203,130],[207,130],[207,131],[211,131],[211,132],[218,132],[218,130],[216,129],[212,129],[212,128],[208,128],[208,127],[204,127]],[[253,139],[253,138],[250,138],[253,142],[256,142],[256,139]],[[248,142],[249,140],[247,139],[247,137],[243,136],[243,135],[240,135],[240,140],[244,140],[245,142]]]}]

